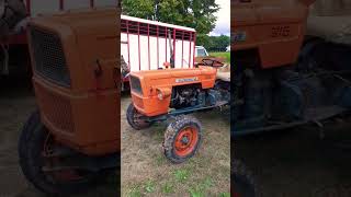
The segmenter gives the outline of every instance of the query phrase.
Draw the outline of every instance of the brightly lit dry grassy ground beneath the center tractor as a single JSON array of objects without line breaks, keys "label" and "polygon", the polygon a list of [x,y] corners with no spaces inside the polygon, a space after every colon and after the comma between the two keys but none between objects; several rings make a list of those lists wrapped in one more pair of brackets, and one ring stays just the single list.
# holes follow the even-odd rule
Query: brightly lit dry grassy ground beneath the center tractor
[{"label": "brightly lit dry grassy ground beneath the center tractor", "polygon": [[128,95],[121,101],[123,196],[229,196],[230,137],[227,112],[196,113],[203,143],[190,161],[172,164],[163,155],[166,124],[134,130],[126,121]]}]

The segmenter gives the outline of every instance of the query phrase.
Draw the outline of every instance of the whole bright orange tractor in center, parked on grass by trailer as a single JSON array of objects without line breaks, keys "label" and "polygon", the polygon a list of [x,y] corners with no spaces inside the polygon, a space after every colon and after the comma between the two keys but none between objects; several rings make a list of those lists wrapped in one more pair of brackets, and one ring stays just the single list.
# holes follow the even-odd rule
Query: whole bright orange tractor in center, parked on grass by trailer
[{"label": "whole bright orange tractor in center, parked on grass by trailer", "polygon": [[200,121],[185,114],[229,103],[230,72],[218,72],[223,66],[215,59],[202,59],[192,69],[131,72],[128,124],[139,130],[172,119],[165,132],[165,155],[171,162],[184,162],[195,154],[202,140]]}]

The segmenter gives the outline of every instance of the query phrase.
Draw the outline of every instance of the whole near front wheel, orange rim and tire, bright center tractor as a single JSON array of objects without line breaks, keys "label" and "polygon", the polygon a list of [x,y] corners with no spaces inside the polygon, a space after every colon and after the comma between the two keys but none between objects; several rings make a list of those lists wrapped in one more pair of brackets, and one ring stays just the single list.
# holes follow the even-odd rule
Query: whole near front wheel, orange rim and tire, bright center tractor
[{"label": "whole near front wheel, orange rim and tire, bright center tractor", "polygon": [[165,132],[163,151],[173,163],[182,163],[192,158],[202,140],[202,126],[192,116],[179,116],[169,124]]}]

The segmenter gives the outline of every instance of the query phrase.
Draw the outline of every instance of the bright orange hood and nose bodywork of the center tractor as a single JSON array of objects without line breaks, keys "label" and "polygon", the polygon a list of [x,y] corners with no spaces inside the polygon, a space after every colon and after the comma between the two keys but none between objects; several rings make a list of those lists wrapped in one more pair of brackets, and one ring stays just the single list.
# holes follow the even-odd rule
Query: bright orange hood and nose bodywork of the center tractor
[{"label": "bright orange hood and nose bodywork of the center tractor", "polygon": [[[199,84],[202,89],[211,89],[215,84],[216,73],[217,70],[212,67],[131,72],[132,77],[140,81],[143,92],[136,92],[132,88],[134,106],[146,116],[167,114],[171,96],[160,100],[157,90],[170,91],[173,86],[186,84]],[[170,92],[167,94],[170,94]]]}]

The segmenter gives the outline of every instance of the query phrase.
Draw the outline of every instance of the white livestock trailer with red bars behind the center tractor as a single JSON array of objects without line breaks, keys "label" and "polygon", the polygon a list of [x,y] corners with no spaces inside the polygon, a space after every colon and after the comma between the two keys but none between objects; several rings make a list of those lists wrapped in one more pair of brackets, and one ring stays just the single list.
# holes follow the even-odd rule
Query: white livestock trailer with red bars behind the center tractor
[{"label": "white livestock trailer with red bars behind the center tractor", "polygon": [[129,89],[131,71],[193,68],[195,43],[194,28],[121,15],[122,91]]}]

